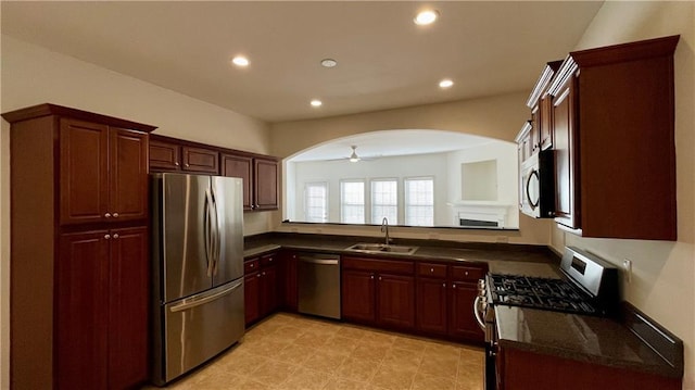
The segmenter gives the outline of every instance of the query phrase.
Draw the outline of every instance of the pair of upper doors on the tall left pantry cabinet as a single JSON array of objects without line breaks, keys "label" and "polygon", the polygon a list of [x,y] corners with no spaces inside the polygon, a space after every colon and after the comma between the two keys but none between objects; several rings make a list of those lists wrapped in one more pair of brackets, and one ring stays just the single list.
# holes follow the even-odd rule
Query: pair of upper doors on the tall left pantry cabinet
[{"label": "pair of upper doors on the tall left pantry cabinet", "polygon": [[60,121],[61,224],[148,216],[147,135]]}]

